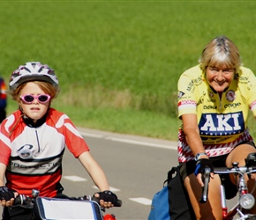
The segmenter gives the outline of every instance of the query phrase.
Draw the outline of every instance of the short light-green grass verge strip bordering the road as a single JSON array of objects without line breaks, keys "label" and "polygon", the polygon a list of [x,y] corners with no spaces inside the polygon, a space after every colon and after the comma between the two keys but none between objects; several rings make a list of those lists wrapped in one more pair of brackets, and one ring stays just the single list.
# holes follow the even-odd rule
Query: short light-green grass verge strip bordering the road
[{"label": "short light-green grass verge strip bordering the road", "polygon": [[[9,101],[9,104],[8,112],[17,109],[14,101]],[[58,99],[52,106],[68,114],[78,127],[177,140],[178,121],[165,114],[128,108],[77,107],[61,103]]]}]

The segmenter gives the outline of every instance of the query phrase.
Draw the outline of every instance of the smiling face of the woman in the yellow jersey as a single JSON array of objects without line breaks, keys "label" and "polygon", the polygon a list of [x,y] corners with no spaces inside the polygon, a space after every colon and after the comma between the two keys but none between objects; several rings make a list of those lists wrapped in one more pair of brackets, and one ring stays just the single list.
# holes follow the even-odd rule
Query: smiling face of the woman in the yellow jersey
[{"label": "smiling face of the woman in the yellow jersey", "polygon": [[207,82],[216,92],[223,92],[230,86],[234,77],[234,69],[227,67],[207,67]]}]

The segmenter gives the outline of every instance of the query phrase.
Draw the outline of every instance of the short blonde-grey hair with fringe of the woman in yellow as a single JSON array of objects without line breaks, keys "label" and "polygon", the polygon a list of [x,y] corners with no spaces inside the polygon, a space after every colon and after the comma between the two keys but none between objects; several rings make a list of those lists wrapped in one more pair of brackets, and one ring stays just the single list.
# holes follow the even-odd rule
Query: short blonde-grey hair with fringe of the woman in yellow
[{"label": "short blonde-grey hair with fringe of the woman in yellow", "polygon": [[208,66],[235,69],[242,65],[237,46],[226,36],[219,36],[211,40],[203,49],[199,59],[200,68],[207,70]]}]

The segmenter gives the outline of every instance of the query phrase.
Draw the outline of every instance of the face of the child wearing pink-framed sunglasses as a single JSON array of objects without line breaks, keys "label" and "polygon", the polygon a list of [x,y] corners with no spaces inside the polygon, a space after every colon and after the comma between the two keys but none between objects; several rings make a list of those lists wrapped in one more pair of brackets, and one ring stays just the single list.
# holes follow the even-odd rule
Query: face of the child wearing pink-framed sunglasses
[{"label": "face of the child wearing pink-framed sunglasses", "polygon": [[[38,95],[46,94],[41,90],[41,88],[34,84],[33,82],[27,83],[24,88],[21,90],[19,96],[33,95],[37,97]],[[41,103],[38,99],[34,99],[30,104],[27,104],[22,99],[19,99],[19,106],[23,109],[24,114],[27,117],[35,121],[41,119],[41,117],[46,114],[49,108],[49,101]]]}]

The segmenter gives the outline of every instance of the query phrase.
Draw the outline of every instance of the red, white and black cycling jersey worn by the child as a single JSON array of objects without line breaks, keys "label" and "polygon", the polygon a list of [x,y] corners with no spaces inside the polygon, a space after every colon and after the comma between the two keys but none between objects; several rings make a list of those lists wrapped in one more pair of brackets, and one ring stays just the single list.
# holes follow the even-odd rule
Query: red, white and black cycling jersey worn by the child
[{"label": "red, white and black cycling jersey worn by the child", "polygon": [[0,131],[0,163],[7,165],[7,187],[19,194],[30,195],[36,188],[41,196],[55,196],[65,146],[76,158],[89,150],[66,114],[49,108],[38,127],[25,123],[19,110],[11,114]]}]

